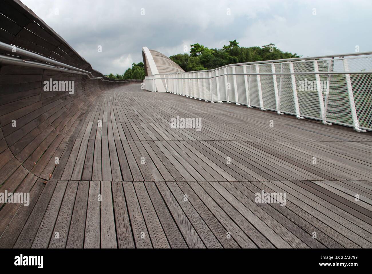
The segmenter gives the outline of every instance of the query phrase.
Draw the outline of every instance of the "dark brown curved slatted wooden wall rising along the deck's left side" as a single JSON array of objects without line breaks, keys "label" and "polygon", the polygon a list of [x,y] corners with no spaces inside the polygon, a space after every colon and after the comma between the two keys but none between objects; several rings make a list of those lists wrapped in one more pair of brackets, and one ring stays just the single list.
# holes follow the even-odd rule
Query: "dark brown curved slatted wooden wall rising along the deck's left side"
[{"label": "dark brown curved slatted wooden wall rising along the deck's left side", "polygon": [[[18,0],[1,1],[0,41],[108,80]],[[74,94],[44,91],[43,82],[50,78],[74,81]],[[89,110],[98,107],[94,99],[125,84],[128,82],[0,63],[1,190],[14,191],[26,176],[49,179],[56,155],[61,155],[70,138],[76,138]]]}]

